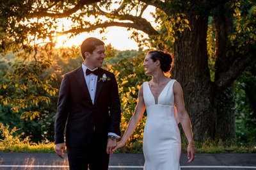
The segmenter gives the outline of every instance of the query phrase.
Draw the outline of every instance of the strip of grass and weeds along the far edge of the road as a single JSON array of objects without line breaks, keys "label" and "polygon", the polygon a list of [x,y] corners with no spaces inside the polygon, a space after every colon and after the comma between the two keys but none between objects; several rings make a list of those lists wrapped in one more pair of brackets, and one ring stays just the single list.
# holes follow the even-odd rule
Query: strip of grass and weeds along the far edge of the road
[{"label": "strip of grass and weeds along the far edge of the road", "polygon": [[[27,153],[55,153],[54,143],[32,143],[29,136],[23,137],[22,134],[15,133],[13,128],[8,130],[9,126],[0,123],[0,152],[27,152]],[[184,139],[184,137],[182,137]],[[188,145],[182,140],[182,153],[186,153]],[[195,143],[196,153],[256,153],[256,144],[250,146],[238,146],[234,141],[211,141],[204,143]],[[119,153],[143,153],[142,143],[134,142],[131,147],[124,147],[117,150]]]}]

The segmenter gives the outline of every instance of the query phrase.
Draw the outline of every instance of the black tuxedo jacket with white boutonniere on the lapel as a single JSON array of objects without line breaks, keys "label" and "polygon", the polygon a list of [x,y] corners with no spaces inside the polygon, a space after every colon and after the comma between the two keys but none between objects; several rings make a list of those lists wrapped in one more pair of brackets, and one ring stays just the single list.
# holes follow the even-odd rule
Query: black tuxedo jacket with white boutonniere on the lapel
[{"label": "black tuxedo jacket with white boutonniere on the lapel", "polygon": [[[67,147],[90,147],[93,135],[96,140],[93,142],[106,146],[108,132],[121,135],[120,98],[115,75],[98,69],[94,104],[82,66],[64,75],[55,120],[55,144],[64,143],[64,132]],[[110,80],[100,80],[104,73]]]}]

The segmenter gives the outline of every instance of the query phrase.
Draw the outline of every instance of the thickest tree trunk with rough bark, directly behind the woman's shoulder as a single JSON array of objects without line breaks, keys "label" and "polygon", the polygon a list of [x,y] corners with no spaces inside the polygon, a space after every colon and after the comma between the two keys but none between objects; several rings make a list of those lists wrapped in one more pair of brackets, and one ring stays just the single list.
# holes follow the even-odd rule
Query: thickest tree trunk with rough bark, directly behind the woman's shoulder
[{"label": "thickest tree trunk with rough bark, directly behind the woman's shoulder", "polygon": [[212,83],[207,57],[208,17],[187,15],[191,30],[180,33],[174,43],[173,78],[184,91],[185,107],[191,117],[196,141],[214,135]]}]

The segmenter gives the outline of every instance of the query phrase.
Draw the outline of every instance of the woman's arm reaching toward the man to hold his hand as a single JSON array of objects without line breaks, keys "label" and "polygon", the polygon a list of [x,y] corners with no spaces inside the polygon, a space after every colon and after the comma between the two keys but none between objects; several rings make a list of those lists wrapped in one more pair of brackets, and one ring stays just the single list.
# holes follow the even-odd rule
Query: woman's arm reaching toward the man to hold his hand
[{"label": "woman's arm reaching toward the man to hold his hand", "polygon": [[136,105],[134,114],[132,115],[131,120],[129,121],[127,130],[125,130],[124,136],[122,137],[120,142],[117,143],[116,147],[113,148],[113,151],[125,145],[127,139],[132,135],[139,121],[141,120],[145,112],[145,108],[146,106],[143,99],[143,85],[141,85],[139,89],[139,94],[138,94],[138,103]]}]

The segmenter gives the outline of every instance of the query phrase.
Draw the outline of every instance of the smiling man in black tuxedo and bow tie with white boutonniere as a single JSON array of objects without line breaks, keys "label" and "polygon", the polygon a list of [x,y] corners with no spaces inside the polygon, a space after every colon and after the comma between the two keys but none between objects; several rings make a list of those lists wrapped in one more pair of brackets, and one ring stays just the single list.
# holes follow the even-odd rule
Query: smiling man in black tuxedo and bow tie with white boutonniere
[{"label": "smiling man in black tuxedo and bow tie with white boutonniere", "polygon": [[[70,169],[108,169],[109,153],[120,137],[120,98],[115,75],[102,68],[104,42],[87,38],[84,62],[64,75],[55,121],[55,151],[67,146]],[[64,144],[65,134],[65,144]]]}]

